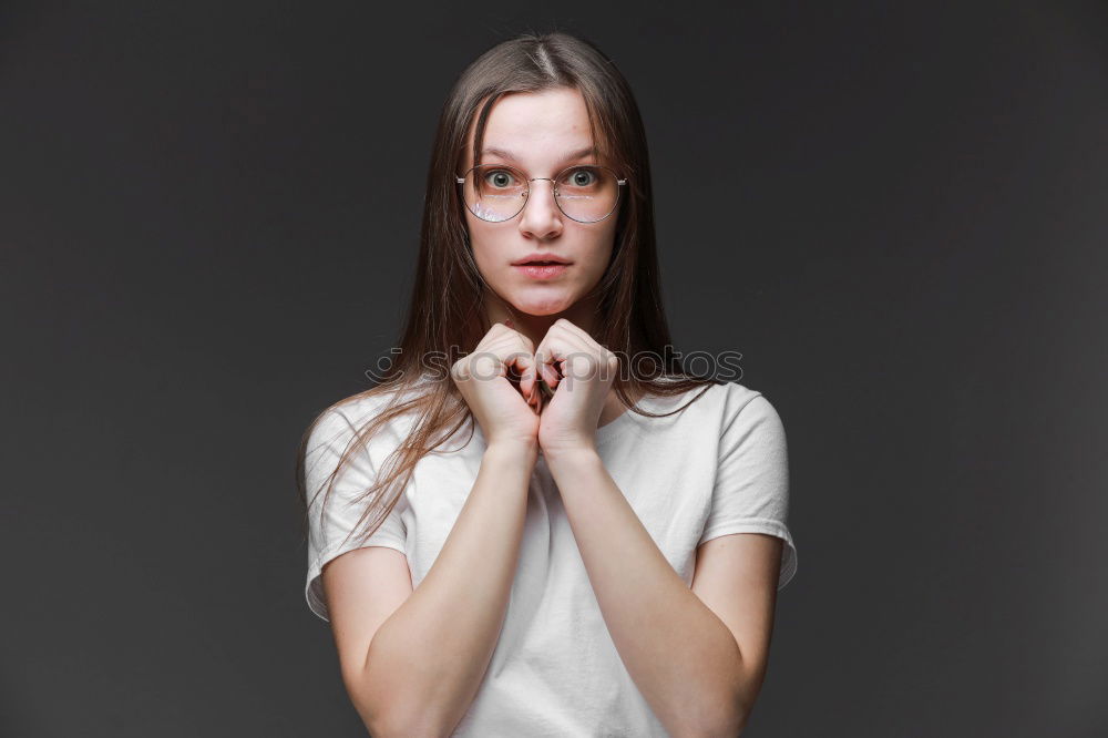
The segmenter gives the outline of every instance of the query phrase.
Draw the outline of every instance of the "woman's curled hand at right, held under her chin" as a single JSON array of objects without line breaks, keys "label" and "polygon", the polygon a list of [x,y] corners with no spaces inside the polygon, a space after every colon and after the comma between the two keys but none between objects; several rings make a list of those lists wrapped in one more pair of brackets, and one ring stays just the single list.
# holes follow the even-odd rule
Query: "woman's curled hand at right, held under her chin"
[{"label": "woman's curled hand at right, held under her chin", "polygon": [[538,447],[545,455],[596,450],[596,424],[619,370],[615,353],[565,318],[535,349],[540,376],[554,390],[542,408]]}]

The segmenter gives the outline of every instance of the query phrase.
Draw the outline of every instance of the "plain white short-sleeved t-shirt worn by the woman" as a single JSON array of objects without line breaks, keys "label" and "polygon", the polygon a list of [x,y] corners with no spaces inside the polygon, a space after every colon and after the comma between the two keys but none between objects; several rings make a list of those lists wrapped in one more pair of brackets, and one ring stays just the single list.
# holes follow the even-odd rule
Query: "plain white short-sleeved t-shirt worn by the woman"
[{"label": "plain white short-sleeved t-shirt worn by the woman", "polygon": [[[668,411],[701,388],[639,404]],[[309,499],[375,406],[369,398],[321,419],[306,457]],[[370,440],[331,492],[326,519],[320,495],[309,508],[306,597],[327,619],[320,570],[358,547],[342,539],[362,508],[343,499],[363,492],[410,428],[400,419]],[[410,422],[410,421],[409,421]],[[468,444],[465,443],[469,441]],[[789,471],[781,420],[760,392],[737,382],[714,385],[668,418],[624,412],[596,431],[597,450],[674,570],[691,586],[699,544],[729,533],[765,533],[784,541],[778,590],[797,571],[787,527]],[[450,533],[476,479],[485,449],[480,426],[463,427],[447,447],[424,457],[389,517],[363,545],[408,557],[419,586]],[[542,458],[527,499],[519,567],[492,660],[454,736],[666,736],[630,678],[607,632],[557,488]]]}]

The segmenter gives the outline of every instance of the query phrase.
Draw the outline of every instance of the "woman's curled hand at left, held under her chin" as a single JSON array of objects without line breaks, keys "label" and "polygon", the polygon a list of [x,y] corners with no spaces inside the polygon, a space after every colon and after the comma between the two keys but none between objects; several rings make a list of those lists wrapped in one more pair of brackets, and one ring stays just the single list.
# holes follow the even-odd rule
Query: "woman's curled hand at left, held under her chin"
[{"label": "woman's curled hand at left, held under her chin", "polygon": [[[519,389],[509,380],[509,371],[519,375]],[[538,448],[538,412],[524,399],[537,392],[531,339],[494,324],[472,353],[454,362],[450,376],[481,424],[488,445]]]}]

